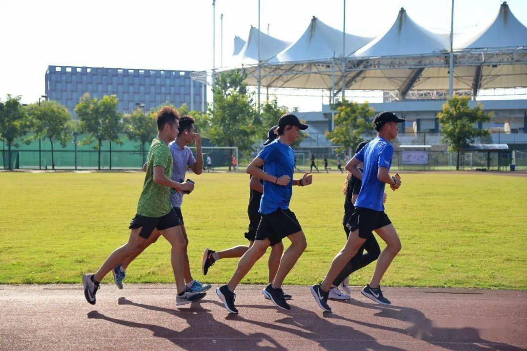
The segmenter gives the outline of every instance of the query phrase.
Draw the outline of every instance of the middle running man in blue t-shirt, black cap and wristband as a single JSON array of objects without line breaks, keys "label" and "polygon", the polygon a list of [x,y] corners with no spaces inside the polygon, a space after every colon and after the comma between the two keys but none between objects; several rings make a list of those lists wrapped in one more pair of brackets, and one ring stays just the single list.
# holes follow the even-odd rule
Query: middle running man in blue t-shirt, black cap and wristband
[{"label": "middle running man in blue t-shirt, black cap and wristband", "polygon": [[[282,309],[291,309],[287,304],[282,282],[298,258],[306,249],[306,237],[295,214],[289,209],[292,186],[311,184],[313,177],[305,173],[301,179],[292,179],[295,166],[295,153],[290,144],[296,140],[300,130],[307,125],[300,123],[293,114],[285,114],[278,120],[275,133],[278,138],[265,146],[258,156],[247,166],[247,173],[264,180],[264,194],[260,200],[260,223],[256,230],[255,243],[240,258],[238,268],[229,283],[216,289],[223,305],[230,313],[238,313],[234,290],[241,279],[249,272],[269,246],[277,245],[288,237],[291,245],[280,259],[278,272],[272,283],[262,293]],[[260,166],[264,165],[264,171]]]}]

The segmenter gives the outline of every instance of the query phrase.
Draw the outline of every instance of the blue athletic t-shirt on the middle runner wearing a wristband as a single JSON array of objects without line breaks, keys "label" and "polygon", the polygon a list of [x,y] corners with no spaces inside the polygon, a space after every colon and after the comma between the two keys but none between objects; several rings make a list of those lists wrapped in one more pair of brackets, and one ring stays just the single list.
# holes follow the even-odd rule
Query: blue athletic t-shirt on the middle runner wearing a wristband
[{"label": "blue athletic t-shirt on the middle runner wearing a wristband", "polygon": [[286,186],[264,180],[264,194],[260,199],[261,214],[275,212],[278,208],[289,208],[289,201],[293,193],[292,180],[295,167],[295,152],[286,144],[275,139],[261,149],[257,156],[264,160],[264,172],[275,177],[288,175],[291,181]]}]

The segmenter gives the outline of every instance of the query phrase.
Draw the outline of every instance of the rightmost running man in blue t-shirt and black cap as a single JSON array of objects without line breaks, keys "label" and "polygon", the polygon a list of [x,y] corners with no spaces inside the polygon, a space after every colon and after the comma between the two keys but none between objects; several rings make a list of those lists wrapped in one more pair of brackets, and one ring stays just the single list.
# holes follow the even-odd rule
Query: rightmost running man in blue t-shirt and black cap
[{"label": "rightmost running man in blue t-shirt and black cap", "polygon": [[[389,184],[393,189],[401,186],[400,179],[389,175],[394,152],[389,141],[397,137],[397,123],[404,121],[405,119],[397,117],[393,112],[377,114],[373,121],[377,137],[360,149],[346,165],[349,172],[362,180],[362,187],[355,202],[355,211],[347,224],[351,233],[344,248],[333,258],[324,281],[311,286],[311,294],[315,297],[315,301],[327,312],[331,311],[327,304],[331,283],[373,231],[386,242],[387,247],[380,253],[372,280],[364,287],[362,294],[379,304],[390,304],[380,290],[380,279],[401,250],[401,240],[392,222],[384,213],[383,196],[385,184]],[[357,167],[360,162],[364,163],[364,172],[360,172]]]}]

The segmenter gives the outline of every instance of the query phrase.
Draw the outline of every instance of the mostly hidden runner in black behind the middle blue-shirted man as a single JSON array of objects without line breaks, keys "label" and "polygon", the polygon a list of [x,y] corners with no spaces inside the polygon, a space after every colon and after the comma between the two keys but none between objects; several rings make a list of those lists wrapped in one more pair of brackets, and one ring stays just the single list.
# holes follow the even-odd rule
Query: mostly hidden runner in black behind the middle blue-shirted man
[{"label": "mostly hidden runner in black behind the middle blue-shirted man", "polygon": [[[278,135],[276,135],[275,130],[278,126],[272,126],[267,132],[267,140],[264,142],[264,145],[270,144],[274,141]],[[260,166],[260,169],[263,171],[264,166]],[[203,260],[201,264],[203,275],[207,275],[209,268],[216,263],[217,260],[222,258],[235,258],[241,257],[247,252],[247,250],[254,244],[256,229],[260,223],[261,215],[258,212],[260,209],[260,199],[262,193],[264,192],[264,180],[251,175],[251,181],[249,183],[251,188],[249,196],[249,206],[247,207],[247,214],[249,215],[249,229],[245,233],[245,238],[249,240],[249,245],[238,245],[230,247],[222,251],[214,251],[209,248],[205,249],[203,253]],[[284,245],[278,243],[271,246],[271,254],[269,255],[269,282],[275,278],[276,272],[278,271],[278,265],[280,264],[280,257],[284,251]],[[290,299],[290,295],[284,295],[286,299]]]}]

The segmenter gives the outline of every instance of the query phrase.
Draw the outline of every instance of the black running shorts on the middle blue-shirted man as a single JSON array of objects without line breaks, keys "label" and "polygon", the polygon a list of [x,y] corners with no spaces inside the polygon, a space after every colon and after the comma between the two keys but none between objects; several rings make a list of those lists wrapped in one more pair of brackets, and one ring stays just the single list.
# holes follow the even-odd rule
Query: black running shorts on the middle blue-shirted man
[{"label": "black running shorts on the middle blue-shirted man", "polygon": [[261,215],[256,229],[256,240],[269,239],[272,246],[280,243],[286,236],[301,230],[302,227],[291,210],[278,208],[275,212]]}]

